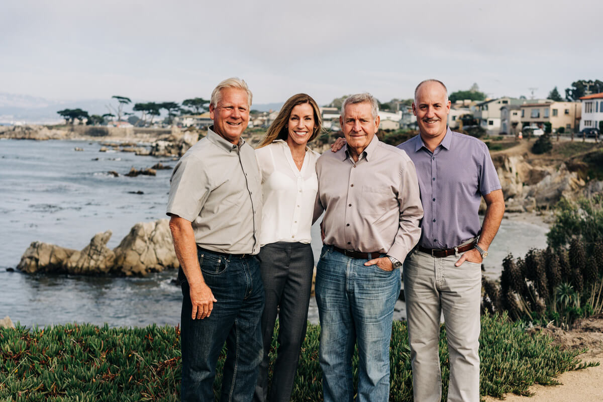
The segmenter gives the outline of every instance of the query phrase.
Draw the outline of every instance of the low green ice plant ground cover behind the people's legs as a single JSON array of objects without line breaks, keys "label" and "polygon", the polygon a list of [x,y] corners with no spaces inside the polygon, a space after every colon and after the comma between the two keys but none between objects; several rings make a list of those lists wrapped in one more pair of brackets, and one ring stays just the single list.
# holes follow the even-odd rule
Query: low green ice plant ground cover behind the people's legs
[{"label": "low green ice plant ground cover behind the people's legs", "polygon": [[[443,400],[449,377],[446,329],[441,328]],[[276,332],[273,348],[276,349]],[[292,400],[322,400],[318,363],[320,327],[309,325]],[[584,363],[580,350],[560,350],[551,338],[528,334],[506,314],[482,316],[481,394],[528,394],[533,383],[555,384],[561,372]],[[224,353],[218,362],[219,392]],[[274,359],[274,354],[272,356]],[[391,401],[412,400],[411,363],[405,322],[391,336]],[[353,359],[355,382],[358,359]],[[150,325],[110,328],[66,324],[46,328],[0,328],[0,400],[14,401],[177,401],[180,386],[180,331]]]}]

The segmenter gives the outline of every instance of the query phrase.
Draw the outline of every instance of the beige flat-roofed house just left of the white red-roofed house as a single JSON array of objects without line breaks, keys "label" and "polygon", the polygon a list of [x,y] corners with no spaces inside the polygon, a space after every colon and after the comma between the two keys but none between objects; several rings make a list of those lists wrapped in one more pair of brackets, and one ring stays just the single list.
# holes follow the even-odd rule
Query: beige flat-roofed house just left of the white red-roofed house
[{"label": "beige flat-roofed house just left of the white red-roofed house", "polygon": [[544,128],[550,122],[553,130],[563,127],[564,130],[575,130],[581,116],[579,102],[557,102],[551,99],[528,101],[520,105],[522,127],[538,126]]}]

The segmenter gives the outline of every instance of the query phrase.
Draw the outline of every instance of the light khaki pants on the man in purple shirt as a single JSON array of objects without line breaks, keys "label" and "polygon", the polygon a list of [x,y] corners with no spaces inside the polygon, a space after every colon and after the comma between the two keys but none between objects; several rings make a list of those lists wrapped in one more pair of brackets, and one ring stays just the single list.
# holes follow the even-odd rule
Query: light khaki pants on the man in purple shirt
[{"label": "light khaki pants on the man in purple shirt", "polygon": [[448,401],[479,401],[479,304],[481,265],[456,256],[412,251],[404,263],[404,294],[412,360],[414,400],[441,400],[438,355],[444,313],[450,353]]}]

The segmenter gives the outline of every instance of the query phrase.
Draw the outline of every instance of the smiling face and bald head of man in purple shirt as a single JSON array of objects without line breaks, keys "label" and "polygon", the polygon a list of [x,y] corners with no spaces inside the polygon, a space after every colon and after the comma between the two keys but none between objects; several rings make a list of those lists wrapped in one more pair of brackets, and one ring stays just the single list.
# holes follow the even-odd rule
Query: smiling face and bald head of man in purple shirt
[{"label": "smiling face and bald head of man in purple shirt", "polygon": [[435,81],[421,84],[412,102],[412,113],[417,116],[421,136],[427,139],[444,138],[449,112],[450,101],[447,100],[446,89]]}]

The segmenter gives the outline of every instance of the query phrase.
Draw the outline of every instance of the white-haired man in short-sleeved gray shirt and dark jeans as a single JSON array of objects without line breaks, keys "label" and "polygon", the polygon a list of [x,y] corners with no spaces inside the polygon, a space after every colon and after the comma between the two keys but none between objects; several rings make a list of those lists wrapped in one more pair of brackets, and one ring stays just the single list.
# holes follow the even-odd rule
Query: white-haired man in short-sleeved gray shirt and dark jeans
[{"label": "white-haired man in short-sleeved gray shirt and dark jeans", "polygon": [[216,362],[224,342],[221,401],[253,397],[263,346],[264,286],[260,250],[260,172],[241,134],[251,92],[238,78],[213,90],[207,136],[172,172],[167,214],[180,262],[182,401],[213,401]]}]

